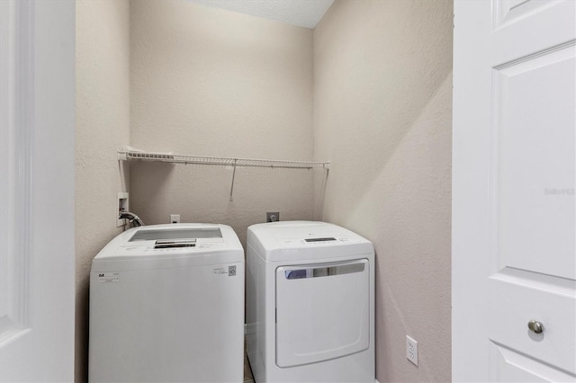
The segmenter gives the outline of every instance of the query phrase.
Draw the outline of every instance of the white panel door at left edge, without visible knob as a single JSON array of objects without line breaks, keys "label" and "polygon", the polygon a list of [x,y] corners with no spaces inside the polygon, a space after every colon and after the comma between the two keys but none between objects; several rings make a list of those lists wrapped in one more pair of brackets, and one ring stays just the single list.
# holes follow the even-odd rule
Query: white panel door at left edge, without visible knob
[{"label": "white panel door at left edge, without visible knob", "polygon": [[73,1],[0,0],[0,381],[74,379]]}]

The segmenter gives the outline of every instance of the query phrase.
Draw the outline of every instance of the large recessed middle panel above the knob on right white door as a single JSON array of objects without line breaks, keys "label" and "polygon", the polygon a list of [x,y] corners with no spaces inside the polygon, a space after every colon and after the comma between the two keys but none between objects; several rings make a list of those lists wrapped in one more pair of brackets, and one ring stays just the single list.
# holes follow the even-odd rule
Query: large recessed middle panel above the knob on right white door
[{"label": "large recessed middle panel above the knob on right white door", "polygon": [[[509,266],[576,279],[575,44],[493,69],[492,272]],[[562,249],[554,263],[544,255],[551,243]]]}]

